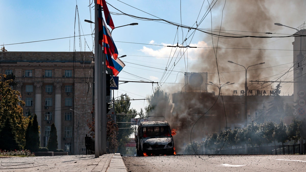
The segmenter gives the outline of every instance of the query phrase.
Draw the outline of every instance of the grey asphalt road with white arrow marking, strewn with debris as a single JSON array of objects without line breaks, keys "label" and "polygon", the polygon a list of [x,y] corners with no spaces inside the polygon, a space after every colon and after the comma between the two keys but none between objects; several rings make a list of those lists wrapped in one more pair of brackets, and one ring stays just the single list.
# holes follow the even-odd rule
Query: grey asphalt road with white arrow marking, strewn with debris
[{"label": "grey asphalt road with white arrow marking, strewn with debris", "polygon": [[128,171],[306,171],[306,155],[124,156]]}]

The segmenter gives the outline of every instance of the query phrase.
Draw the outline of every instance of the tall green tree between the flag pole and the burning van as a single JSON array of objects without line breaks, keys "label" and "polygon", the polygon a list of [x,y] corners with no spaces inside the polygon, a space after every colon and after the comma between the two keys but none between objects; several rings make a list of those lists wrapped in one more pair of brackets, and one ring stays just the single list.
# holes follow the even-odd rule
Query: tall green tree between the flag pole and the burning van
[{"label": "tall green tree between the flag pole and the burning van", "polygon": [[121,95],[119,101],[115,101],[116,122],[118,125],[118,152],[125,155],[128,149],[125,147],[135,128],[129,123],[131,118],[135,118],[137,111],[130,109],[131,102],[128,95]]}]

